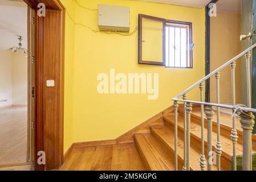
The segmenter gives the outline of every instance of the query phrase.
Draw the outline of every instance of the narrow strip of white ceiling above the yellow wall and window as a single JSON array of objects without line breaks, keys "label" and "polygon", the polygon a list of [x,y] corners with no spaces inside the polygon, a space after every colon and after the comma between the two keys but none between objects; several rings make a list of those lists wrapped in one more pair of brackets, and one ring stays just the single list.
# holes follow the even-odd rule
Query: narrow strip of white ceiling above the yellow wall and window
[{"label": "narrow strip of white ceiling above the yellow wall and window", "polygon": [[167,5],[187,6],[202,8],[205,7],[211,0],[136,0],[144,2],[155,2]]}]

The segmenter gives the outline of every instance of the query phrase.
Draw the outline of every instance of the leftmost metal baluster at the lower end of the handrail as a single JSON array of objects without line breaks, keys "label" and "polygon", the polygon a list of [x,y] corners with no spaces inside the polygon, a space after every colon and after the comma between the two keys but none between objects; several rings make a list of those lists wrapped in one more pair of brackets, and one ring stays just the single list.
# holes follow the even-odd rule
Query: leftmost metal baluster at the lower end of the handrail
[{"label": "leftmost metal baluster at the lower end of the handrail", "polygon": [[178,171],[178,102],[173,102],[174,107],[174,160],[175,160],[175,171]]}]

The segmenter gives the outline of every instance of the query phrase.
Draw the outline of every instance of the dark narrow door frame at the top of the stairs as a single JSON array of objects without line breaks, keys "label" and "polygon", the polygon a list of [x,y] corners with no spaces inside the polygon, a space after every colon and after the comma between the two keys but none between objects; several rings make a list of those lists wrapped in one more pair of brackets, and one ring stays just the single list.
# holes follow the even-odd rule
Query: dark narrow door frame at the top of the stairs
[{"label": "dark narrow door frame at the top of the stairs", "polygon": [[[212,0],[205,6],[205,76],[210,73],[210,16],[209,5],[218,0]],[[210,79],[205,81],[205,102],[210,102]]]}]

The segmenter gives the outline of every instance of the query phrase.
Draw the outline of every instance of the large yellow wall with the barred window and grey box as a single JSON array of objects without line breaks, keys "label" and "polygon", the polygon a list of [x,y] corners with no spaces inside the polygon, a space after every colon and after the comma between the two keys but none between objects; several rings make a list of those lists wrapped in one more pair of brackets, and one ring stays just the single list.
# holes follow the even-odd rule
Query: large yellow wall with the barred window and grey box
[{"label": "large yellow wall with the barred window and grey box", "polygon": [[[63,2],[67,1],[63,0]],[[131,31],[138,24],[138,14],[192,22],[193,43],[195,44],[193,69],[173,69],[137,64],[137,32],[132,36],[93,32],[90,28],[98,30],[97,11],[89,11],[75,5],[75,15],[72,15],[72,18],[75,19],[76,23],[84,24],[90,28],[79,24],[75,26],[73,70],[71,70],[73,65],[70,62],[72,53],[67,53],[67,51],[72,52],[73,49],[71,49],[69,42],[66,42],[65,63],[71,65],[71,68],[65,69],[66,107],[64,122],[65,127],[70,128],[64,129],[64,151],[70,145],[71,138],[73,138],[73,142],[83,142],[119,137],[172,105],[172,97],[194,84],[205,74],[204,9],[126,0],[80,0],[79,2],[90,9],[97,9],[97,5],[100,3],[130,7]],[[67,22],[69,21],[70,18],[67,17]],[[71,25],[69,22],[66,27]],[[73,33],[71,30],[70,32]],[[70,36],[66,30],[66,39],[70,39],[72,44]],[[67,55],[70,56],[70,59],[67,58]],[[148,100],[148,94],[97,93],[97,84],[99,83],[96,80],[97,75],[99,73],[109,75],[111,68],[115,68],[116,73],[125,74],[159,73],[159,98]],[[73,79],[71,79],[72,73],[74,74]],[[72,92],[73,95],[71,96]],[[198,100],[197,93],[199,93],[199,89],[191,92],[189,98]],[[72,109],[69,110],[71,105]],[[73,134],[72,137],[70,137],[71,134]]]}]

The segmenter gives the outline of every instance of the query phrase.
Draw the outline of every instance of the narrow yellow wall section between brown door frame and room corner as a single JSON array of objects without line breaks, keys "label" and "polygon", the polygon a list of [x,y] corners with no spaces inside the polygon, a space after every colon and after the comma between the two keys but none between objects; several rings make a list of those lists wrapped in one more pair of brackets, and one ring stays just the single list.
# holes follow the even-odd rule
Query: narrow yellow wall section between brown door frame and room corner
[{"label": "narrow yellow wall section between brown door frame and room corner", "polygon": [[71,0],[62,0],[66,7],[65,60],[64,60],[64,152],[74,142],[73,133],[73,80],[74,80],[74,39],[75,24],[68,18],[67,12],[75,16],[75,4]]}]

